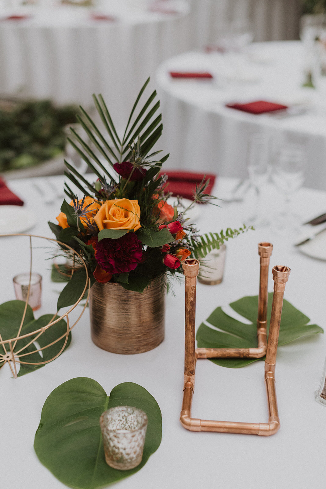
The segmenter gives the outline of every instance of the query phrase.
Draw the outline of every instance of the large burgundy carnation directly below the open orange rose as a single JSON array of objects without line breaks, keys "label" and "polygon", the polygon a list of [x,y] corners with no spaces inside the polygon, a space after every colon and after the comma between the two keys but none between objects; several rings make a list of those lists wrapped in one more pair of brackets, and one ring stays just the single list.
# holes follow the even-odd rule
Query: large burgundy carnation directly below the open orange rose
[{"label": "large burgundy carnation directly below the open orange rose", "polygon": [[127,233],[117,240],[104,238],[96,246],[96,261],[108,273],[134,270],[142,259],[142,243],[135,233]]}]

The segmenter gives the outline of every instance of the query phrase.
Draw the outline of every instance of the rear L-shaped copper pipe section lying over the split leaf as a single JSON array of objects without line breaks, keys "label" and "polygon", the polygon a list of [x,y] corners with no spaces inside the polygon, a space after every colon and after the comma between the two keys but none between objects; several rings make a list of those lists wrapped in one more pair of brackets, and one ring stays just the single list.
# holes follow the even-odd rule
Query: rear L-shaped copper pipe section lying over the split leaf
[{"label": "rear L-shaped copper pipe section lying over the split leaf", "polygon": [[196,348],[196,358],[262,358],[266,354],[267,334],[267,303],[268,303],[268,267],[269,258],[273,251],[271,243],[259,243],[260,277],[258,295],[257,317],[257,343],[256,348]]}]

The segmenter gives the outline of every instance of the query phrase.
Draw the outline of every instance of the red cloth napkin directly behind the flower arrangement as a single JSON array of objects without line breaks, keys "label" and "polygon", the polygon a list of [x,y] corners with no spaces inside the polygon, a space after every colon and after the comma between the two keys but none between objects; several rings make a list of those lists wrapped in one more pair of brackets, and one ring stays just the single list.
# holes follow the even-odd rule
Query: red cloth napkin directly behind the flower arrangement
[{"label": "red cloth napkin directly behind the flower arrangement", "polygon": [[167,175],[167,185],[164,188],[165,194],[172,192],[173,195],[180,195],[185,199],[191,200],[193,200],[193,191],[196,189],[196,184],[198,185],[203,180],[205,175],[205,181],[209,178],[209,183],[206,187],[205,194],[211,193],[216,178],[216,175],[208,173],[182,172],[178,170],[160,173],[160,175],[163,174]]}]

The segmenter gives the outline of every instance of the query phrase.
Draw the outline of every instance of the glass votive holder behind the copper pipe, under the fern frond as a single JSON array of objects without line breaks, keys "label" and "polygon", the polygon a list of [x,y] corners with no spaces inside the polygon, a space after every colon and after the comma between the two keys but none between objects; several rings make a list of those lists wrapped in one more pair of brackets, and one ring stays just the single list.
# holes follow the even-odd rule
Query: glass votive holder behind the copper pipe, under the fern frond
[{"label": "glass votive holder behind the copper pipe, under the fern frond", "polygon": [[224,274],[226,246],[222,244],[220,249],[213,249],[205,258],[200,259],[201,270],[198,282],[206,285],[221,284]]}]

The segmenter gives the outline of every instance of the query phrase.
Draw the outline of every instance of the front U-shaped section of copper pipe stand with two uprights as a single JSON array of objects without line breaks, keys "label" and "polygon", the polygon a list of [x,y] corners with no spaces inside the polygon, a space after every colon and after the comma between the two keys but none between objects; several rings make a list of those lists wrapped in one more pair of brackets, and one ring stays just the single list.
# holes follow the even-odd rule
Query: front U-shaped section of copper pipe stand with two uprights
[{"label": "front U-shaped section of copper pipe stand with two uprights", "polygon": [[[189,287],[187,279],[193,279],[193,271],[195,271],[196,260],[188,260],[191,262],[191,267],[187,267],[187,260],[183,264],[183,273],[185,276],[186,290]],[[190,276],[188,273],[192,273]],[[198,271],[197,271],[198,273]],[[245,423],[245,422],[230,422],[230,421],[213,421],[213,420],[201,420],[191,418],[191,403],[195,386],[195,370],[193,374],[184,375],[183,385],[183,405],[180,413],[180,422],[184,428],[190,431],[213,431],[220,433],[238,433],[247,435],[260,435],[269,436],[276,433],[280,427],[280,420],[277,409],[277,399],[275,390],[275,363],[276,353],[278,345],[278,337],[280,331],[281,314],[283,307],[283,296],[285,290],[285,283],[288,280],[290,269],[284,266],[273,267],[273,280],[274,280],[274,293],[272,312],[269,326],[269,336],[265,360],[265,386],[268,403],[269,418],[266,423]],[[195,279],[196,280],[196,279]],[[191,281],[192,287],[196,285]],[[185,307],[185,352],[184,352],[184,370],[186,372],[187,365],[191,359],[191,355],[194,352],[194,336],[192,331],[188,331],[188,325],[193,327],[193,321],[195,318],[195,297],[191,300],[189,295],[189,289],[186,292],[188,297],[186,299]],[[188,317],[189,312],[189,317]],[[195,358],[191,365],[195,366]]]}]

